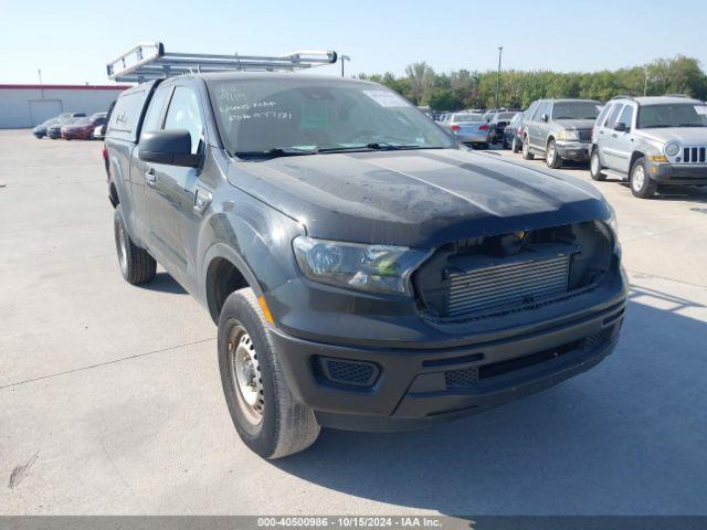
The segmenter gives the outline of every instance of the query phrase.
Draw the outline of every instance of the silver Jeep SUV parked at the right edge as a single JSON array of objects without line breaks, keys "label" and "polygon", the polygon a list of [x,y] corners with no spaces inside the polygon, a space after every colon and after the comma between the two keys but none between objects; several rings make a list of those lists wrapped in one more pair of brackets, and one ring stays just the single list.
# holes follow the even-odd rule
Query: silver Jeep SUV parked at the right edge
[{"label": "silver Jeep SUV parked at the right edge", "polygon": [[685,96],[610,100],[597,119],[590,173],[629,180],[639,198],[661,184],[707,184],[707,105]]}]

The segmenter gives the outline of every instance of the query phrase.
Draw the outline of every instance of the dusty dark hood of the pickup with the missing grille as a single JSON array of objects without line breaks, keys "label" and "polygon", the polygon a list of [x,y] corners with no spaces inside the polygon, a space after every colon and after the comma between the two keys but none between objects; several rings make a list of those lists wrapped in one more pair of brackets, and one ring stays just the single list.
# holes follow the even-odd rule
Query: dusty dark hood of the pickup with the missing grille
[{"label": "dusty dark hood of the pickup with the missing grille", "polygon": [[358,243],[432,248],[609,215],[577,178],[457,149],[238,161],[229,180],[313,237]]}]

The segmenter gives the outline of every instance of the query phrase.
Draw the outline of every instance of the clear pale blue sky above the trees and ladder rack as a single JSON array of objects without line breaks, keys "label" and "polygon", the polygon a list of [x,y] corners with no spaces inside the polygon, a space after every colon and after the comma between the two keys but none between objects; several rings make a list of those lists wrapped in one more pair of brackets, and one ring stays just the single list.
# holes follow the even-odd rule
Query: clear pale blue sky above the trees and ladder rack
[{"label": "clear pale blue sky above the trees and ladder rack", "polygon": [[[0,0],[0,83],[106,83],[107,60],[138,42],[180,52],[329,49],[348,73],[496,67],[597,71],[678,53],[707,67],[704,0],[44,1]],[[319,73],[337,73],[327,66]]]}]

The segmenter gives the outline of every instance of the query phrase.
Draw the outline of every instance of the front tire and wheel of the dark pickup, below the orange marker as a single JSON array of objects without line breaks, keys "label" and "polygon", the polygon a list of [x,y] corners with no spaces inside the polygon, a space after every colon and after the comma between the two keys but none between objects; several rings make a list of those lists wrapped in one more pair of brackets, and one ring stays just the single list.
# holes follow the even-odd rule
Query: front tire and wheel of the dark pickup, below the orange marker
[{"label": "front tire and wheel of the dark pickup, below the orange marker", "polygon": [[250,287],[226,298],[219,317],[218,348],[225,402],[243,443],[271,459],[309,447],[320,427],[312,409],[294,400]]}]

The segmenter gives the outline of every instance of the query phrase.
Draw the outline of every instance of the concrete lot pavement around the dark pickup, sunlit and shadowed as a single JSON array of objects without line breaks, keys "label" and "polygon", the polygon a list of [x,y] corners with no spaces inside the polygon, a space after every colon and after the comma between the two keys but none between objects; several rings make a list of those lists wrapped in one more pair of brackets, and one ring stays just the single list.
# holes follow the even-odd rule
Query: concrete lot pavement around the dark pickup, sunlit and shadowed
[{"label": "concrete lot pavement around the dark pickup, sunlit and shadowed", "polygon": [[598,184],[633,292],[597,369],[268,463],[233,431],[205,310],[165,273],[122,280],[101,148],[0,131],[0,513],[707,513],[707,192]]}]

